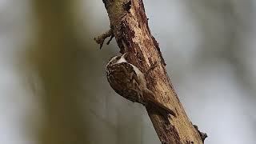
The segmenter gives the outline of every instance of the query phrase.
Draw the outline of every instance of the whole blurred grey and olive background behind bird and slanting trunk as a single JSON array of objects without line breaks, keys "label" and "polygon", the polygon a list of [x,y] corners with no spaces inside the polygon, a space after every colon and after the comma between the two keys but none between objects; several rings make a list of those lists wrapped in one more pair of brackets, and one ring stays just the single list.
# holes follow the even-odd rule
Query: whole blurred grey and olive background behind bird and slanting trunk
[{"label": "whole blurred grey and olive background behind bird and slanting trunk", "polygon": [[[256,2],[145,1],[150,30],[206,144],[254,144]],[[102,0],[0,0],[1,144],[155,144],[143,106],[106,82],[118,54]]]}]

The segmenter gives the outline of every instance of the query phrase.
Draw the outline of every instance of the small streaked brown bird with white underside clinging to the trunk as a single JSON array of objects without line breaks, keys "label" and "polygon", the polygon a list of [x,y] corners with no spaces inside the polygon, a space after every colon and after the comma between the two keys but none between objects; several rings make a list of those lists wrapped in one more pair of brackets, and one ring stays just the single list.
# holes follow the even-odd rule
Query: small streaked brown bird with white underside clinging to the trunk
[{"label": "small streaked brown bird with white underside clinging to the trunk", "polygon": [[169,114],[176,117],[173,110],[154,98],[154,93],[146,86],[145,74],[138,67],[126,61],[127,55],[126,52],[114,56],[106,65],[106,78],[112,89],[131,102],[141,103],[146,108],[154,108],[166,119]]}]

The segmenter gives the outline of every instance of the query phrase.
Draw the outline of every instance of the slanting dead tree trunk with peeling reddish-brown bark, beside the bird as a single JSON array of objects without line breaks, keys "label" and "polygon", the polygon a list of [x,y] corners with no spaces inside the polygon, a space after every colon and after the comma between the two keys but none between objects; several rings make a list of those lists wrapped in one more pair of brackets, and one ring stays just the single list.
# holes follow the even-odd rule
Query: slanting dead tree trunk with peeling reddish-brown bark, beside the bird
[{"label": "slanting dead tree trunk with peeling reddish-brown bark, beside the bird", "polygon": [[170,117],[169,122],[166,122],[156,111],[147,109],[162,144],[203,143],[198,130],[186,116],[166,73],[166,63],[162,58],[158,42],[150,33],[142,0],[103,0],[103,2],[120,52],[122,54],[128,52],[130,55],[128,62],[133,63],[142,72],[146,72],[150,66],[158,62],[158,66],[146,77],[148,88],[154,91],[159,102],[169,106],[177,115]]}]

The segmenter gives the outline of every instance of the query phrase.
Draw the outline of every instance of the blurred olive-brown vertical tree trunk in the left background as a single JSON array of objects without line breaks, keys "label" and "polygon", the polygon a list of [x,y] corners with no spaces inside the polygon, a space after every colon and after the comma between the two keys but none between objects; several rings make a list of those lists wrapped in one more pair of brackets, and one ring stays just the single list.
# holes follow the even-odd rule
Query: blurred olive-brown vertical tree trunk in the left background
[{"label": "blurred olive-brown vertical tree trunk in the left background", "polygon": [[[41,144],[83,144],[90,142],[88,123],[79,101],[80,63],[88,61],[73,25],[76,1],[34,0],[38,37],[29,50],[30,62],[41,82],[44,115],[38,135]],[[81,64],[82,65],[82,64]],[[84,66],[84,65],[82,65]]]}]

